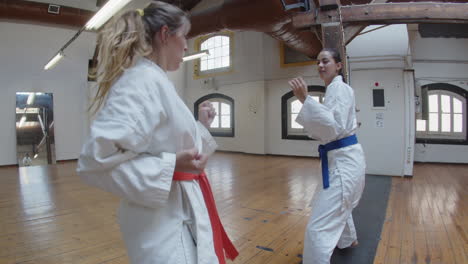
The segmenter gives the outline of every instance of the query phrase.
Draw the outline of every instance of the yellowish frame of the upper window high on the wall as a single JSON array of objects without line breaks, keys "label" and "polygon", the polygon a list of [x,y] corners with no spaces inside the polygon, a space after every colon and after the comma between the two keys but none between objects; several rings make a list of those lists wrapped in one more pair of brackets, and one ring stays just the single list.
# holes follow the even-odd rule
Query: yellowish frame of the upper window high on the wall
[{"label": "yellowish frame of the upper window high on the wall", "polygon": [[234,70],[233,67],[233,57],[234,57],[234,33],[231,31],[223,31],[223,32],[217,32],[215,34],[209,34],[206,36],[201,36],[195,40],[195,51],[200,51],[201,50],[201,45],[203,42],[207,41],[210,38],[218,37],[218,36],[223,36],[223,37],[228,37],[229,38],[229,66],[228,67],[222,67],[222,68],[216,68],[216,69],[210,69],[206,71],[201,71],[201,59],[195,60],[195,65],[194,65],[194,70],[193,70],[193,78],[194,79],[201,79],[201,78],[209,78],[213,76],[218,76],[218,75],[224,75],[224,74],[229,74],[232,73]]}]

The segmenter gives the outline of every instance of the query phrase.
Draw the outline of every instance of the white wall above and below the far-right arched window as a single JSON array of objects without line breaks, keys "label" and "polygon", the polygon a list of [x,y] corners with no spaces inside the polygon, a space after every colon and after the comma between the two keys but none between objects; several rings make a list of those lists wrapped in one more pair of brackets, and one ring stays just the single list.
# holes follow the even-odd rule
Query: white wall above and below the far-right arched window
[{"label": "white wall above and below the far-right arched window", "polygon": [[[468,91],[468,39],[421,38],[409,27],[416,81],[444,82]],[[416,144],[415,161],[468,163],[467,145]]]}]

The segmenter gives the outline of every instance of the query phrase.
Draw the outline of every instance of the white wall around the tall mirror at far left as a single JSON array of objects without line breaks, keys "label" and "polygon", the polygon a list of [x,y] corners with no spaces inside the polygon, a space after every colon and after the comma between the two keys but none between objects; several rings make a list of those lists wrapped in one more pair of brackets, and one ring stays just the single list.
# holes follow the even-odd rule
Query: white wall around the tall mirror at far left
[{"label": "white wall around the tall mirror at far left", "polygon": [[[82,34],[65,52],[59,66],[43,71],[45,63],[76,31],[30,24],[0,23],[0,165],[16,164],[15,94],[54,95],[55,143],[58,160],[75,159],[85,124],[88,59],[94,34]],[[8,36],[8,37],[6,37]]]}]

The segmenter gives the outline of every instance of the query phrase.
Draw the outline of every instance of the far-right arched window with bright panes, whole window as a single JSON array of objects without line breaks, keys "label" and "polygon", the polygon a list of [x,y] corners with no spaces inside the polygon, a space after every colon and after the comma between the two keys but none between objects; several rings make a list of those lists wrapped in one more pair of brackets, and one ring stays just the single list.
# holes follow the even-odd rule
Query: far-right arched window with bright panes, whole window
[{"label": "far-right arched window with bright panes, whole window", "polygon": [[446,83],[423,86],[423,119],[416,119],[417,142],[467,142],[467,92]]}]

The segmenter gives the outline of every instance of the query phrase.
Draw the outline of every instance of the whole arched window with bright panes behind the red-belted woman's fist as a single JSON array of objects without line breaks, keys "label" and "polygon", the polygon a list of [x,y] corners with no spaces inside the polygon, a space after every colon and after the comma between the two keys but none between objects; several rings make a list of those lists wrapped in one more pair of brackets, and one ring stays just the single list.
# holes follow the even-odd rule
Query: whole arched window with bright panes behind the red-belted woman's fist
[{"label": "whole arched window with bright panes behind the red-belted woman's fist", "polygon": [[195,119],[198,120],[198,107],[209,100],[216,111],[216,116],[208,129],[215,137],[234,137],[234,100],[224,94],[213,93],[198,99],[194,104]]}]

